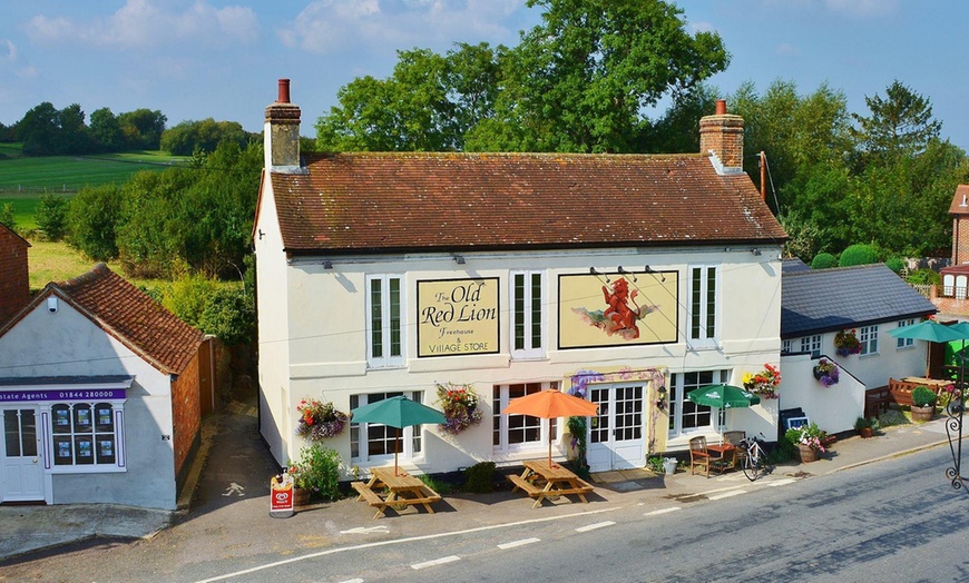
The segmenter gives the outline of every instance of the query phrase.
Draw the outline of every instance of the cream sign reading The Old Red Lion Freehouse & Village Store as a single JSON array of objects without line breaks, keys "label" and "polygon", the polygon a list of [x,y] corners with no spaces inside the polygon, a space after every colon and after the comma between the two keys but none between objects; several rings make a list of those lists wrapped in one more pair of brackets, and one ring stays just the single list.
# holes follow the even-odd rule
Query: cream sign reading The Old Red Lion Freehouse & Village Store
[{"label": "cream sign reading The Old Red Lion Freehouse & Village Store", "polygon": [[498,278],[418,281],[418,356],[498,353]]}]

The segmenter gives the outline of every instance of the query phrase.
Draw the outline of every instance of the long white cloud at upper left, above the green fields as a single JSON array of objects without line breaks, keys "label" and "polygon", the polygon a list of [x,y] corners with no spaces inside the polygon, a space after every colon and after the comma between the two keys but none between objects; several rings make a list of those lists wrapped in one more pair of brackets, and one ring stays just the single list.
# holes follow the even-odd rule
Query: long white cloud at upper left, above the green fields
[{"label": "long white cloud at upper left, above the green fields", "polygon": [[27,31],[36,42],[131,49],[163,45],[229,47],[255,39],[258,27],[255,13],[246,7],[217,9],[196,0],[176,12],[161,0],[127,0],[114,14],[86,21],[38,16],[28,22]]}]

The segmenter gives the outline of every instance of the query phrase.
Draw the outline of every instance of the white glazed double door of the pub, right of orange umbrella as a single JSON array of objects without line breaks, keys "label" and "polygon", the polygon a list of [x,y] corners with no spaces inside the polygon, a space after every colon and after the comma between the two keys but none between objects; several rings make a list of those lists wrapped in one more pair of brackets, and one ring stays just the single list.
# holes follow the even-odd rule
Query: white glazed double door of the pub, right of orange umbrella
[{"label": "white glazed double door of the pub, right of orange umbrella", "polygon": [[645,465],[643,385],[594,385],[589,398],[599,404],[589,421],[587,460],[591,472]]}]

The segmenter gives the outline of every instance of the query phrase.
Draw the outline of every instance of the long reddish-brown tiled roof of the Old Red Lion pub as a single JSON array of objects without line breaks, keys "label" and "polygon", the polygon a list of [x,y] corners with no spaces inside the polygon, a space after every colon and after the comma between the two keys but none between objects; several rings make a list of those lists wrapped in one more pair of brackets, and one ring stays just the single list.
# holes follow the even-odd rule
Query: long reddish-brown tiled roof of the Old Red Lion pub
[{"label": "long reddish-brown tiled roof of the Old Red Lion pub", "polygon": [[745,174],[707,156],[307,154],[271,176],[288,253],[779,243]]}]

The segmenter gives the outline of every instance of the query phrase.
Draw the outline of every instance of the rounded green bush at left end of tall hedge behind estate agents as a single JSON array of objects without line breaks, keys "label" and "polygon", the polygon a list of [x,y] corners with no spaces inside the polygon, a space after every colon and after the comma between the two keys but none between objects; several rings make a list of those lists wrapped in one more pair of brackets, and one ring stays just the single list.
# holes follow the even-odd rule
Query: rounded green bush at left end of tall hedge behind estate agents
[{"label": "rounded green bush at left end of tall hedge behind estate agents", "polygon": [[116,233],[121,216],[121,190],[114,185],[81,189],[67,211],[67,243],[95,261],[118,256]]}]

